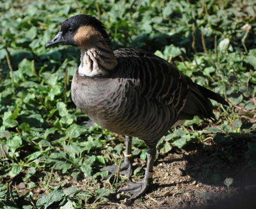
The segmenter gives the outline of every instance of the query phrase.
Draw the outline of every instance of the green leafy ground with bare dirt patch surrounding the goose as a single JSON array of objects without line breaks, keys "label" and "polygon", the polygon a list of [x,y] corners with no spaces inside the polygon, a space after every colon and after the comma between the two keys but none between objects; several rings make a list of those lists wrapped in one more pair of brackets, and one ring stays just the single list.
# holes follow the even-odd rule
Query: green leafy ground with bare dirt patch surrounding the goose
[{"label": "green leafy ground with bare dirt patch surrounding the goose", "polygon": [[[0,2],[0,207],[200,208],[256,185],[256,4],[253,0],[38,0]],[[158,144],[155,183],[130,206],[124,138],[90,123],[70,97],[80,54],[45,48],[68,17],[104,22],[113,48],[154,52],[230,103],[219,122],[187,121]],[[133,141],[134,180],[147,146]],[[225,180],[226,179],[226,180]],[[225,181],[224,181],[225,180]]]}]

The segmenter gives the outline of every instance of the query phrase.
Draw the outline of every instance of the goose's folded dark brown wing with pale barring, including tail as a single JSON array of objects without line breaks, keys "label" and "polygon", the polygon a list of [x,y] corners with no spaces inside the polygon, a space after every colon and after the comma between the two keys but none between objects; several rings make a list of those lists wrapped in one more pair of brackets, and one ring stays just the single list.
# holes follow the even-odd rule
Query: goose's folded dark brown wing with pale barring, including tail
[{"label": "goose's folded dark brown wing with pale barring, including tail", "polygon": [[228,103],[220,95],[195,84],[174,65],[141,49],[124,48],[114,51],[126,76],[133,78],[136,91],[142,96],[175,108],[184,119],[198,115],[215,120],[208,98]]}]

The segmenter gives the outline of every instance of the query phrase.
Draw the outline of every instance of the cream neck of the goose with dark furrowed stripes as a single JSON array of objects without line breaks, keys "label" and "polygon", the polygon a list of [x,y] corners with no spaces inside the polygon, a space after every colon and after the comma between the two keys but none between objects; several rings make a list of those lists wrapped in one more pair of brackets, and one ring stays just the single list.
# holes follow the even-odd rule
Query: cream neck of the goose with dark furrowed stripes
[{"label": "cream neck of the goose with dark furrowed stripes", "polygon": [[108,75],[117,65],[117,60],[107,43],[98,42],[89,48],[81,48],[80,76]]}]

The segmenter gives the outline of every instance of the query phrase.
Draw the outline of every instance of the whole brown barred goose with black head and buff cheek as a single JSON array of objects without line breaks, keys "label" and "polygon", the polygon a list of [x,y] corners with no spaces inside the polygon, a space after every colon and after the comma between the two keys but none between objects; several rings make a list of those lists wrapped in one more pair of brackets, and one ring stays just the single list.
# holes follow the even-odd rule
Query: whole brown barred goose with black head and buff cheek
[{"label": "whole brown barred goose with black head and buff cheek", "polygon": [[[122,189],[132,194],[131,199],[149,188],[156,144],[171,127],[195,115],[214,120],[209,98],[228,105],[220,95],[150,52],[113,51],[105,27],[93,16],[80,14],[65,20],[47,47],[59,44],[81,48],[81,64],[71,85],[74,104],[93,122],[126,136],[121,173],[132,174],[131,137],[143,139],[149,147],[143,181]],[[102,170],[115,173],[117,166]]]}]

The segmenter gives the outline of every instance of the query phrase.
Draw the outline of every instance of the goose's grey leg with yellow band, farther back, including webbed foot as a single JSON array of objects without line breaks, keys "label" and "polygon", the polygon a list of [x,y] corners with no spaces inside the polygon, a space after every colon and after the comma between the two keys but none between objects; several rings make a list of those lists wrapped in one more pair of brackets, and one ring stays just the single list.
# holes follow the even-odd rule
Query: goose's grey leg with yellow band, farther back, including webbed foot
[{"label": "goose's grey leg with yellow band, farther back, including webbed foot", "polygon": [[[132,176],[132,137],[125,136],[125,143],[126,143],[126,153],[124,154],[124,162],[121,163],[120,173],[121,175],[125,175],[128,178]],[[103,177],[102,179],[107,179],[109,176],[115,174],[117,171],[117,165],[109,165],[101,169],[108,170],[111,174],[108,176]]]}]

